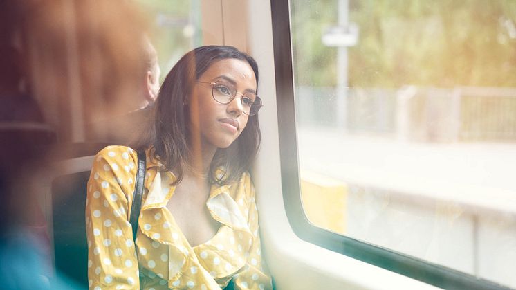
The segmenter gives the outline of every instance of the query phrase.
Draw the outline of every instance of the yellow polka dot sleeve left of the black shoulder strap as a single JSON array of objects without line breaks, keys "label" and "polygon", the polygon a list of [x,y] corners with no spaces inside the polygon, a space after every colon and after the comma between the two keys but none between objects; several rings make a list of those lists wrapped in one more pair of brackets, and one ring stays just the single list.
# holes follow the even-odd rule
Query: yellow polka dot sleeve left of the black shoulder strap
[{"label": "yellow polka dot sleeve left of the black shoulder strap", "polygon": [[138,262],[128,208],[138,157],[129,147],[95,156],[86,198],[89,289],[139,289]]}]

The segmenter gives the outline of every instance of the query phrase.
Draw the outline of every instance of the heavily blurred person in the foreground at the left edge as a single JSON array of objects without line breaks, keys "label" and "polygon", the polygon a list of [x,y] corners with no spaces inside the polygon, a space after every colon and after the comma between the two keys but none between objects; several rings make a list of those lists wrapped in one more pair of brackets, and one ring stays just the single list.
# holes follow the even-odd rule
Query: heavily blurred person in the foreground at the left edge
[{"label": "heavily blurred person in the foreground at the left edge", "polygon": [[23,114],[0,117],[23,115],[57,133],[57,143],[0,138],[0,289],[80,289],[50,269],[30,229],[33,208],[42,205],[59,154],[91,130],[84,124],[140,102],[142,53],[133,47],[145,26],[124,0],[1,1],[0,21],[0,100],[20,87],[35,100],[15,99],[12,110]]}]

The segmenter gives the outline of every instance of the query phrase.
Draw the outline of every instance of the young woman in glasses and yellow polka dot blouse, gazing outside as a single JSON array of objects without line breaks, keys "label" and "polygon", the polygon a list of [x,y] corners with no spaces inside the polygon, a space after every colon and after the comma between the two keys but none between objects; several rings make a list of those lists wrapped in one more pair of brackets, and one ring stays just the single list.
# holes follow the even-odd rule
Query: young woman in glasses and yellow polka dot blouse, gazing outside
[{"label": "young woman in glasses and yellow polka dot blouse, gazing outside", "polygon": [[[95,157],[86,232],[91,289],[270,289],[248,170],[260,143],[255,60],[190,51],[170,71],[145,136]],[[137,150],[147,174],[133,241]]]}]

